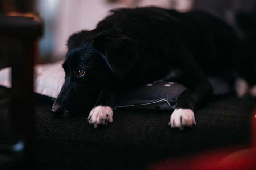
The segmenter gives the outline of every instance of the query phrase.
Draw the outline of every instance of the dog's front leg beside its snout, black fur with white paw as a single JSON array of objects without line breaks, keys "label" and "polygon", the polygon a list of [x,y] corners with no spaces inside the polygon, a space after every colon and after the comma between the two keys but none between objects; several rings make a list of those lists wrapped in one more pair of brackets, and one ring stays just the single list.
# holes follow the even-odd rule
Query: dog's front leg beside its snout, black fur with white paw
[{"label": "dog's front leg beside its snout, black fur with white paw", "polygon": [[101,89],[99,98],[87,118],[90,124],[94,124],[94,128],[96,128],[98,124],[106,125],[107,122],[113,121],[112,117],[116,109],[116,93],[116,90],[111,87]]}]

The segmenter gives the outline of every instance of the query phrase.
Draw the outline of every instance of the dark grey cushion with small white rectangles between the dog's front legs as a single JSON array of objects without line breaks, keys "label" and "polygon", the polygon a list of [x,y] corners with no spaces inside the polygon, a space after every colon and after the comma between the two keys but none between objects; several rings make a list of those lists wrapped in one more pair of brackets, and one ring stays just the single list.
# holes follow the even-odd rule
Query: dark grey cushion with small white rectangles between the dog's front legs
[{"label": "dark grey cushion with small white rectangles between the dog's front legs", "polygon": [[[184,90],[186,87],[176,82],[150,82],[117,93],[116,104],[117,107],[125,107],[125,109],[174,110],[178,97]],[[154,104],[160,100],[162,102]]]}]

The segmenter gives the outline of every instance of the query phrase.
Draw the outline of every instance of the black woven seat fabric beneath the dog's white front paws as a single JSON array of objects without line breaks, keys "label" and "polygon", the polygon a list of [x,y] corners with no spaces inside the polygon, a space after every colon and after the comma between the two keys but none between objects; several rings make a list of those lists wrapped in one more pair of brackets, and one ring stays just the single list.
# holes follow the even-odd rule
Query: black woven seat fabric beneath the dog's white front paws
[{"label": "black woven seat fabric beneath the dog's white front paws", "polygon": [[[148,162],[249,139],[253,99],[228,97],[195,111],[197,125],[168,126],[170,111],[118,110],[113,123],[94,129],[89,111],[56,118],[52,102],[37,102],[36,165],[49,169],[138,169]],[[8,106],[0,106],[0,144],[7,145]]]}]

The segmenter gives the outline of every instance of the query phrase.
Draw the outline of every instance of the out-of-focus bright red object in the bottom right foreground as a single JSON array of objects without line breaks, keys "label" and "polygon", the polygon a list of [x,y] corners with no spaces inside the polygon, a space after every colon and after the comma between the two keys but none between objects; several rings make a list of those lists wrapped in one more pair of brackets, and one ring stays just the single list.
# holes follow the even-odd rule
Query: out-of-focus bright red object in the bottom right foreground
[{"label": "out-of-focus bright red object in the bottom right foreground", "polygon": [[[256,105],[252,114],[252,138],[249,146],[239,145],[170,158],[145,167],[145,170],[256,170]],[[216,152],[216,154],[212,154]]]}]

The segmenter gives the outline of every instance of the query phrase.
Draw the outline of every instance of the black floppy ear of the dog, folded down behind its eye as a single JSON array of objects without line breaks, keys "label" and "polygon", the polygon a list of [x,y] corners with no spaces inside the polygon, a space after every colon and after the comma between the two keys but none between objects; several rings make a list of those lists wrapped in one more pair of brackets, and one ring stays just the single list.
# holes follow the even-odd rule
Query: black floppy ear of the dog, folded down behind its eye
[{"label": "black floppy ear of the dog, folded down behind its eye", "polygon": [[119,78],[129,73],[138,58],[137,43],[116,30],[98,34],[94,39],[94,46]]}]

